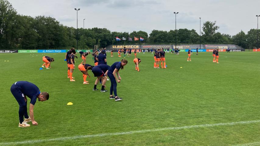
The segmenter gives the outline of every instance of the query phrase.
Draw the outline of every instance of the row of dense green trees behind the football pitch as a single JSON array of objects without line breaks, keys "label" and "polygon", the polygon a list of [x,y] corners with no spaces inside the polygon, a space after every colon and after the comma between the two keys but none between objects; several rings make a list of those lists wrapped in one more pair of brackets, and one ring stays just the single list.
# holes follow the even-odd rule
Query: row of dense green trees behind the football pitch
[{"label": "row of dense green trees behind the football pitch", "polygon": [[[93,49],[94,45],[106,47],[111,44],[127,44],[129,37],[143,37],[146,44],[236,44],[244,48],[256,47],[257,29],[236,35],[217,32],[216,21],[202,25],[201,38],[194,29],[153,30],[149,36],[144,31],[111,32],[106,28],[78,29],[78,48]],[[77,30],[60,24],[49,16],[24,16],[16,12],[7,0],[0,0],[0,49],[68,49],[76,48]],[[126,41],[115,42],[115,37]],[[129,43],[131,43],[129,41]],[[133,43],[133,42],[132,42]],[[136,41],[135,43],[139,43]]]}]

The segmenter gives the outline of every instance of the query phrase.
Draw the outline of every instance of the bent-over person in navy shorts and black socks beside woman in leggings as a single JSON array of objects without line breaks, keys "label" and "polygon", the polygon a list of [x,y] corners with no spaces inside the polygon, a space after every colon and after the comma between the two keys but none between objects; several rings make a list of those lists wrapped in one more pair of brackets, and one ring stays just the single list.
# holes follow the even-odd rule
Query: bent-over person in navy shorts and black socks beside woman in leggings
[{"label": "bent-over person in navy shorts and black socks beside woman in leggings", "polygon": [[105,90],[105,85],[107,82],[107,72],[109,70],[110,66],[107,64],[101,64],[101,65],[97,65],[94,66],[92,68],[92,72],[94,74],[94,77],[97,77],[96,81],[95,81],[95,85],[94,88],[92,89],[93,91],[98,90],[97,89],[97,83],[98,81],[101,79],[102,80],[102,88],[100,90],[100,92],[107,92],[107,90]]}]

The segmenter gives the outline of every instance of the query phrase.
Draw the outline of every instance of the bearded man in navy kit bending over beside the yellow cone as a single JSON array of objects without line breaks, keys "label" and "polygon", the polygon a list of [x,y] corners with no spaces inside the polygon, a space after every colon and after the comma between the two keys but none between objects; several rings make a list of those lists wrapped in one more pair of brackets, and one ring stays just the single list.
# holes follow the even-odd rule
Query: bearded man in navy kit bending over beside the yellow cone
[{"label": "bearded man in navy kit bending over beside the yellow cone", "polygon": [[[38,125],[38,123],[34,120],[33,116],[33,108],[36,100],[45,101],[49,99],[49,93],[40,92],[39,88],[33,83],[26,81],[18,81],[15,82],[11,86],[12,95],[15,97],[16,101],[19,104],[19,125],[18,127],[30,127],[28,122],[32,121],[33,125]],[[30,101],[30,116],[27,113],[27,97],[31,99]],[[24,116],[24,120],[23,120]]]}]

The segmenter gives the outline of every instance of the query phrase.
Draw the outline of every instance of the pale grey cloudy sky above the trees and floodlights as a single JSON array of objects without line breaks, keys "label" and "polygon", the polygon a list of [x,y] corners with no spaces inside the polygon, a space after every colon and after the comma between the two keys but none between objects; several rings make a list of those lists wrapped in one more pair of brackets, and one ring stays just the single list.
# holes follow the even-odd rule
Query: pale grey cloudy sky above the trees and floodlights
[{"label": "pale grey cloudy sky above the trees and floodlights", "polygon": [[[78,27],[107,28],[111,31],[132,32],[195,29],[199,33],[205,21],[215,21],[218,32],[235,35],[257,28],[260,0],[9,0],[19,14],[32,17],[44,15],[57,19],[61,24]],[[259,23],[260,23],[260,17]]]}]

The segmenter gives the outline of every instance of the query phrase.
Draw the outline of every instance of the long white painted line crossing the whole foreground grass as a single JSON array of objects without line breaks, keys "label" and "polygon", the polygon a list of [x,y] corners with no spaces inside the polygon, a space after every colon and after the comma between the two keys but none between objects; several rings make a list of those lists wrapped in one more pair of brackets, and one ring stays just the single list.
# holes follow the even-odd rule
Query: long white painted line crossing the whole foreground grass
[{"label": "long white painted line crossing the whole foreground grass", "polygon": [[41,142],[48,142],[48,141],[65,141],[65,140],[72,140],[72,139],[84,139],[84,138],[90,138],[90,137],[104,137],[104,136],[111,136],[111,135],[125,135],[125,134],[146,133],[146,132],[155,132],[155,131],[163,131],[163,130],[180,130],[180,129],[189,129],[189,128],[201,128],[201,127],[231,126],[231,125],[250,124],[250,123],[259,123],[259,122],[260,122],[260,120],[253,120],[253,121],[241,121],[241,122],[231,122],[231,123],[192,125],[192,126],[183,126],[183,127],[167,127],[167,128],[160,128],[160,129],[128,131],[128,132],[118,132],[118,133],[103,133],[103,134],[93,134],[93,135],[80,135],[80,136],[72,136],[72,137],[39,139],[39,140],[31,140],[31,141],[3,142],[3,143],[0,143],[0,145],[34,144],[34,143],[41,143]]}]

